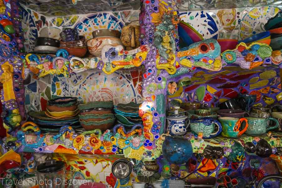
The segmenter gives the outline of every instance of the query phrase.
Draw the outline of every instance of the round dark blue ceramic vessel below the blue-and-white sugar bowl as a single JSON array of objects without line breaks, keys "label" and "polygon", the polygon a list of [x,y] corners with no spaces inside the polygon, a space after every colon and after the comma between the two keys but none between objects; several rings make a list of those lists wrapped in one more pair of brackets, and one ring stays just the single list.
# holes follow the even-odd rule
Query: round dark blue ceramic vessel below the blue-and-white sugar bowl
[{"label": "round dark blue ceramic vessel below the blue-and-white sugar bowl", "polygon": [[188,162],[193,154],[190,140],[171,136],[165,138],[162,151],[165,159],[176,165]]}]

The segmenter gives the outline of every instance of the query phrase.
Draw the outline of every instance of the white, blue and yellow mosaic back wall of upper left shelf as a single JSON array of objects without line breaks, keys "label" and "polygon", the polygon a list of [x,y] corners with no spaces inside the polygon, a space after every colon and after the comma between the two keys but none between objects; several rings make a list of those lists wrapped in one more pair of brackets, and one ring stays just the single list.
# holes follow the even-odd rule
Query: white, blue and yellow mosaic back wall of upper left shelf
[{"label": "white, blue and yellow mosaic back wall of upper left shelf", "polygon": [[26,39],[24,46],[27,52],[33,51],[37,37],[59,39],[63,27],[76,27],[79,34],[84,35],[86,40],[93,38],[92,32],[98,29],[115,29],[121,31],[125,23],[138,20],[140,12],[139,10],[127,10],[65,16],[65,13],[60,11],[52,17],[48,17],[33,9],[23,7],[22,26],[24,29],[24,38]]}]

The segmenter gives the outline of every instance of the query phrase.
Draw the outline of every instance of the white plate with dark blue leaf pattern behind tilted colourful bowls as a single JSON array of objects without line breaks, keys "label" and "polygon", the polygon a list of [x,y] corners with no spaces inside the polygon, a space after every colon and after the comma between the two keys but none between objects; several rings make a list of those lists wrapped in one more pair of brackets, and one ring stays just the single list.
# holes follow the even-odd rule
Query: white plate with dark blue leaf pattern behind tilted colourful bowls
[{"label": "white plate with dark blue leaf pattern behind tilted colourful bowls", "polygon": [[180,13],[182,21],[190,24],[204,39],[218,39],[217,24],[208,12],[194,11]]}]

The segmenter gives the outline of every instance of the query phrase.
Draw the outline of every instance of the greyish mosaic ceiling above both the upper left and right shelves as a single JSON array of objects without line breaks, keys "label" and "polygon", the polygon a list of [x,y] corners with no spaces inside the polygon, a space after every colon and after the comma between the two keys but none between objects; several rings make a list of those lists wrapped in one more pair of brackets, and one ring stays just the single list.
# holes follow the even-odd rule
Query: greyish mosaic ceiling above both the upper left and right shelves
[{"label": "greyish mosaic ceiling above both the upper left and right shelves", "polygon": [[[20,0],[20,3],[44,16],[66,16],[101,11],[140,10],[140,0]],[[279,0],[172,0],[180,11],[243,8],[264,5],[282,5]],[[174,3],[175,2],[175,3]]]}]

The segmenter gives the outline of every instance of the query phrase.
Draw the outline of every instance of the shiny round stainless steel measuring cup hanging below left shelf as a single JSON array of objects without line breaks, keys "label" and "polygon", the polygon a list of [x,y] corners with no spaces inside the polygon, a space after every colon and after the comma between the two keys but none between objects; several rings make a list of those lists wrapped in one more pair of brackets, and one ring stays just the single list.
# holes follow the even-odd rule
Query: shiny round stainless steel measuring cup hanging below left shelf
[{"label": "shiny round stainless steel measuring cup hanging below left shelf", "polygon": [[132,161],[128,162],[126,159],[117,159],[112,165],[112,174],[118,179],[127,178],[131,171]]}]

